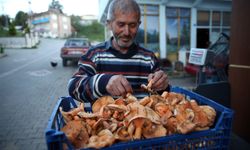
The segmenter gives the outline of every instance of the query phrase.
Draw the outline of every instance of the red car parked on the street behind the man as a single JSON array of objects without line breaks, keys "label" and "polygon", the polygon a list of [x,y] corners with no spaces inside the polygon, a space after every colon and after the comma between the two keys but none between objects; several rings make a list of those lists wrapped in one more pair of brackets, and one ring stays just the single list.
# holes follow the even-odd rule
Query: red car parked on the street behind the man
[{"label": "red car parked on the street behind the man", "polygon": [[61,48],[61,58],[63,66],[67,66],[67,62],[78,61],[91,46],[87,38],[68,38]]}]

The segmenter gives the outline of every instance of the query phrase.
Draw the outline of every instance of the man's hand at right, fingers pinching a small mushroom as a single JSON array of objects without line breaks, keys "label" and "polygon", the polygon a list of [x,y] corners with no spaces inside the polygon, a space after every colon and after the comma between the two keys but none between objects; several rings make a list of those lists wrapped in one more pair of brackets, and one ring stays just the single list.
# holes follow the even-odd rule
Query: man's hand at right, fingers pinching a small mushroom
[{"label": "man's hand at right, fingers pinching a small mushroom", "polygon": [[148,81],[150,80],[152,80],[151,88],[156,91],[165,90],[168,87],[168,76],[162,70],[149,74]]}]

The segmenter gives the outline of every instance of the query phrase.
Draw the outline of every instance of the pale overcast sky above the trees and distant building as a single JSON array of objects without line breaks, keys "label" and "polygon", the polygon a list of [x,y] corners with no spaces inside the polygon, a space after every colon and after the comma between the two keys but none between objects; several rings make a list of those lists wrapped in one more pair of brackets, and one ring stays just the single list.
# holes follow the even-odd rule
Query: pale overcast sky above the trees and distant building
[{"label": "pale overcast sky above the trees and distant building", "polygon": [[[29,4],[30,2],[30,4]],[[16,16],[18,11],[34,13],[48,10],[52,0],[0,0],[0,15],[7,14],[11,18]],[[98,0],[59,0],[63,5],[63,12],[67,15],[98,15]]]}]

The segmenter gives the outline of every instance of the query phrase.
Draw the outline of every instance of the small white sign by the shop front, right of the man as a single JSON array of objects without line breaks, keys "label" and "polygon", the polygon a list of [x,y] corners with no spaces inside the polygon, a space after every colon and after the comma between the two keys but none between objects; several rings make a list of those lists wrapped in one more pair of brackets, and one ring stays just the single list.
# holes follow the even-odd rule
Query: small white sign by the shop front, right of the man
[{"label": "small white sign by the shop front, right of the man", "polygon": [[207,56],[207,49],[191,48],[188,62],[195,65],[204,65]]}]

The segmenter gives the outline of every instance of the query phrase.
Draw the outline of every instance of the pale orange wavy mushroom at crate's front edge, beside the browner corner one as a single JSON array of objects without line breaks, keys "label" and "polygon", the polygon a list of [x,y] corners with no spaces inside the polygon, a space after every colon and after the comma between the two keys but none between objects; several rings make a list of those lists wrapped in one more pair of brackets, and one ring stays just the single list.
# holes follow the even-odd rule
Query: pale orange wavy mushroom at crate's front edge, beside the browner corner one
[{"label": "pale orange wavy mushroom at crate's front edge, beside the browner corner one", "polygon": [[111,131],[104,129],[100,131],[97,135],[93,135],[89,139],[89,143],[86,148],[96,148],[100,149],[105,146],[110,146],[115,142],[115,137]]}]

